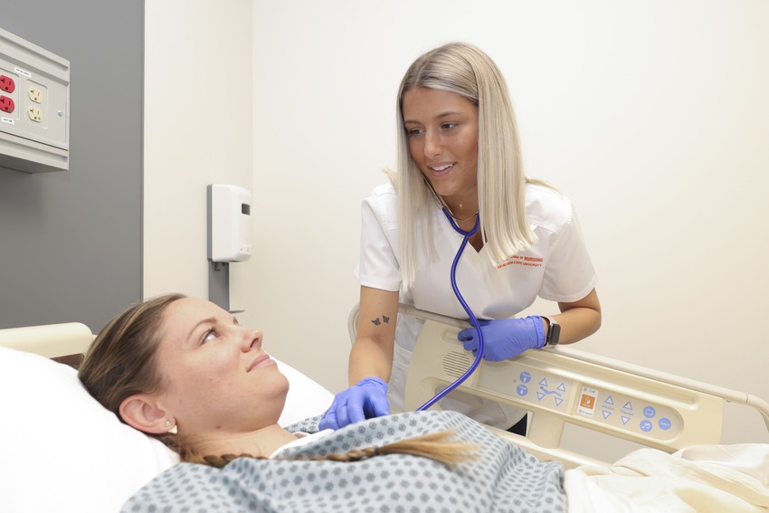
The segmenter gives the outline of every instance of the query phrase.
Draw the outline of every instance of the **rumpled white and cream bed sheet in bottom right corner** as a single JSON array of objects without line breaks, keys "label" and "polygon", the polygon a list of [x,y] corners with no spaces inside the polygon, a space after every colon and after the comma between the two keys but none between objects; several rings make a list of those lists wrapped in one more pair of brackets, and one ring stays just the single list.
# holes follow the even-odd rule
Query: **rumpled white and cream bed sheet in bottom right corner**
[{"label": "rumpled white and cream bed sheet in bottom right corner", "polygon": [[769,444],[633,451],[566,470],[569,513],[755,513],[769,508]]}]

